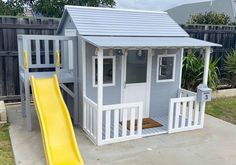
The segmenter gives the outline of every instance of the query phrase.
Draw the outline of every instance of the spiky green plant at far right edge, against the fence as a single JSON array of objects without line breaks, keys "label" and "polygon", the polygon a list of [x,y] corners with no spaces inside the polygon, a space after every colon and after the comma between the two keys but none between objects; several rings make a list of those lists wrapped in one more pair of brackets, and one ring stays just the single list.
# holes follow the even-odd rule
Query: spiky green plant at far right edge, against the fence
[{"label": "spiky green plant at far right edge, against the fence", "polygon": [[224,70],[226,71],[231,86],[233,88],[236,87],[236,50],[227,53]]}]

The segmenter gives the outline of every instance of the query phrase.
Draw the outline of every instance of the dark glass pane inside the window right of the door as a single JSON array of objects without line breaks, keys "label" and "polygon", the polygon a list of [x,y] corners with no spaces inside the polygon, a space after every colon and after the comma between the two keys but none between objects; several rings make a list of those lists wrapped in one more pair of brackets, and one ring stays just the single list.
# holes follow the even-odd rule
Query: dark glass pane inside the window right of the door
[{"label": "dark glass pane inside the window right of the door", "polygon": [[158,80],[168,80],[173,78],[174,57],[161,57],[159,60]]}]

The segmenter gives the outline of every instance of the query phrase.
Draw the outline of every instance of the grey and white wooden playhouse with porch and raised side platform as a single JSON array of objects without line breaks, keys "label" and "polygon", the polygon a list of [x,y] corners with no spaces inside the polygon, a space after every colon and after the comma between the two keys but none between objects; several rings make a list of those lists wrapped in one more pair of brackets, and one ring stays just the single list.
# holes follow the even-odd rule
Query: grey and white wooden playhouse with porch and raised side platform
[{"label": "grey and white wooden playhouse with porch and raised side platform", "polygon": [[[30,76],[54,74],[73,123],[96,145],[204,126],[210,47],[220,45],[191,38],[166,12],[65,6],[57,35],[19,35],[18,45],[28,130]],[[205,53],[198,94],[181,88],[185,48]]]}]

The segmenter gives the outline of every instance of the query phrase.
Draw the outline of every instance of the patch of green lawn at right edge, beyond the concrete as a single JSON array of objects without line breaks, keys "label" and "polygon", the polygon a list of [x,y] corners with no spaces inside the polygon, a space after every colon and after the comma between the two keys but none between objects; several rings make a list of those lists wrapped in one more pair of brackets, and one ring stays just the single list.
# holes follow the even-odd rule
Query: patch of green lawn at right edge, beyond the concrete
[{"label": "patch of green lawn at right edge, beyond the concrete", "polygon": [[215,99],[207,102],[206,113],[236,124],[236,97]]}]

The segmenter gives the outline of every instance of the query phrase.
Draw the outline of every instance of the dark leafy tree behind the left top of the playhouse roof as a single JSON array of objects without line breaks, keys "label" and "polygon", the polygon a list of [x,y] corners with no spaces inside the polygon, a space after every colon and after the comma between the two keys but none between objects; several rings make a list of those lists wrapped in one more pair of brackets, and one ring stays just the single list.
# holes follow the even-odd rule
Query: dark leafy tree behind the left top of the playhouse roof
[{"label": "dark leafy tree behind the left top of the playhouse roof", "polygon": [[61,17],[65,5],[108,6],[115,5],[114,0],[25,0],[32,4],[33,11],[46,17]]}]

